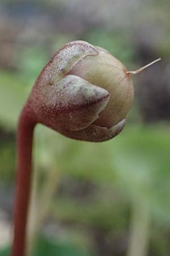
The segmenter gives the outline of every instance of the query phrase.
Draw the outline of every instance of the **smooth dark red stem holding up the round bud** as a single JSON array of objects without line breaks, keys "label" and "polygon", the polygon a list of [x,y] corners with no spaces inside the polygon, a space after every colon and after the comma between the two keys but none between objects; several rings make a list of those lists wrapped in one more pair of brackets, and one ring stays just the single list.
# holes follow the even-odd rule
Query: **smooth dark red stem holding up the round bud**
[{"label": "smooth dark red stem holding up the round bud", "polygon": [[27,212],[32,176],[32,141],[35,124],[30,109],[25,106],[19,118],[17,133],[18,177],[14,209],[14,242],[11,256],[25,255]]}]

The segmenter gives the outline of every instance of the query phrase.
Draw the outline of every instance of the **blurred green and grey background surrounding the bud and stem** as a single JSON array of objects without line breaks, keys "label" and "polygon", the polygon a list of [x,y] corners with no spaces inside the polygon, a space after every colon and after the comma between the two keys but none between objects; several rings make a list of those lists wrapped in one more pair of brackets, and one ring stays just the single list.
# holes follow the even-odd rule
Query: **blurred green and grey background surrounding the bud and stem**
[{"label": "blurred green and grey background surrounding the bud and stem", "polygon": [[104,143],[35,133],[29,256],[170,255],[169,0],[1,0],[0,255],[9,255],[18,115],[71,40],[108,49],[134,77],[126,128]]}]

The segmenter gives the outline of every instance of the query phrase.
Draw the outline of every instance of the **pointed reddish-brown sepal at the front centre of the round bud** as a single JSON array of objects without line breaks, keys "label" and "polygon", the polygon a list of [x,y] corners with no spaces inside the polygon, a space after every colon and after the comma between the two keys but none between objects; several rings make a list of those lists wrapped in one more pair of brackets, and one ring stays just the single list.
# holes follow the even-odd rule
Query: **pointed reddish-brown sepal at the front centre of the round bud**
[{"label": "pointed reddish-brown sepal at the front centre of the round bud", "polygon": [[109,101],[107,90],[78,76],[67,75],[41,93],[34,90],[31,105],[37,121],[62,133],[77,131],[91,125]]}]

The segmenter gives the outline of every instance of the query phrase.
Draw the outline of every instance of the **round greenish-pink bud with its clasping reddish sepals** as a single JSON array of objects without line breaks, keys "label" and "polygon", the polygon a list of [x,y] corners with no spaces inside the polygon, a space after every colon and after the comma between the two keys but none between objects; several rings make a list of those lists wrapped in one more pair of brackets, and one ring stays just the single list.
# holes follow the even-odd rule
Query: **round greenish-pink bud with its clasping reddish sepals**
[{"label": "round greenish-pink bud with its clasping reddish sepals", "polygon": [[70,138],[98,142],[120,133],[133,94],[127,69],[116,57],[75,41],[42,69],[28,104],[37,122]]}]

